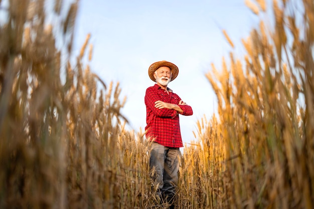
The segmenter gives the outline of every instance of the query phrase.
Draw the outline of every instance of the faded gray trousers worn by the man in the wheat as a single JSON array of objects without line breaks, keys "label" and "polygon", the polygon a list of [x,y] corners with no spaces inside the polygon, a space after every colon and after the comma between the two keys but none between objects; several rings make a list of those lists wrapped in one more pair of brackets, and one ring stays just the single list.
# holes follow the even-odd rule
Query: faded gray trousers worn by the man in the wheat
[{"label": "faded gray trousers worn by the man in the wheat", "polygon": [[180,149],[152,142],[149,167],[155,172],[153,180],[158,183],[157,195],[169,203],[173,202],[178,186]]}]

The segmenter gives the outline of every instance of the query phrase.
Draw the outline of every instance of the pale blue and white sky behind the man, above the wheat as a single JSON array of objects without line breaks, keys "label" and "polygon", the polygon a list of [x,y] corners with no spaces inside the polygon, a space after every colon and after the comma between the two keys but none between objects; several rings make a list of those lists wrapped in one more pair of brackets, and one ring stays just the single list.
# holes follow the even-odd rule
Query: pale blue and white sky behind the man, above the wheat
[{"label": "pale blue and white sky behind the man, above the wheat", "polygon": [[[161,60],[176,64],[179,75],[168,87],[194,112],[180,116],[187,146],[195,140],[197,121],[217,114],[217,98],[205,74],[212,63],[219,70],[222,58],[230,52],[241,58],[245,53],[241,39],[258,22],[244,0],[81,0],[75,44],[80,48],[91,34],[91,71],[107,85],[119,82],[121,100],[127,97],[122,114],[129,121],[127,128],[135,132],[146,125],[144,95],[154,85],[148,67]],[[222,30],[234,42],[234,49]]]}]

